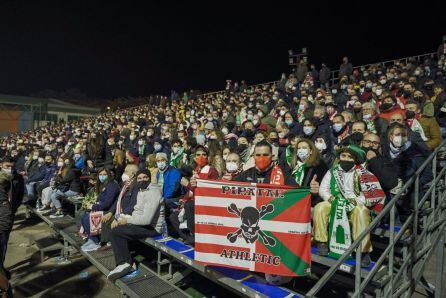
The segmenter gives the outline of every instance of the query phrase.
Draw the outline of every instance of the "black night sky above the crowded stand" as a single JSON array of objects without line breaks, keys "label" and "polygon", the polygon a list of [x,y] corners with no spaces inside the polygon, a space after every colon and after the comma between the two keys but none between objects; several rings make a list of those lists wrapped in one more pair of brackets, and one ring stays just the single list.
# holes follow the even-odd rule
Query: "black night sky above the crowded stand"
[{"label": "black night sky above the crowded stand", "polygon": [[442,1],[155,2],[1,0],[0,93],[220,90],[227,78],[277,79],[288,49],[334,69],[343,55],[359,65],[435,51],[446,34]]}]

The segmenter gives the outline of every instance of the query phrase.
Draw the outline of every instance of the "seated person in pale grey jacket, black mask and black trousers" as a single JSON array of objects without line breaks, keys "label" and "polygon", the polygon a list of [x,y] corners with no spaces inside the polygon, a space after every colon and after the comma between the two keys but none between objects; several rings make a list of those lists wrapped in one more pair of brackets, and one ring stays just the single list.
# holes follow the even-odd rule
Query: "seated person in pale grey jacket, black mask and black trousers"
[{"label": "seated person in pale grey jacket, black mask and black trousers", "polygon": [[116,267],[107,278],[116,280],[134,270],[129,241],[158,236],[165,225],[164,200],[159,185],[150,184],[150,173],[139,172],[136,181],[139,192],[136,204],[129,213],[119,213],[111,227],[110,241]]}]

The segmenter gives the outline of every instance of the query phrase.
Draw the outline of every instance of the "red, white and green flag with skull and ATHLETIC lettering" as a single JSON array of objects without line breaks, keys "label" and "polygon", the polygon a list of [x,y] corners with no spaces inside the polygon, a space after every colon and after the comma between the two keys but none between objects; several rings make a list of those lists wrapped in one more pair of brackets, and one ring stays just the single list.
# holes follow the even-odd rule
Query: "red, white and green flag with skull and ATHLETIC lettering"
[{"label": "red, white and green flag with skull and ATHLETIC lettering", "polygon": [[198,180],[195,260],[282,276],[311,266],[308,188]]}]

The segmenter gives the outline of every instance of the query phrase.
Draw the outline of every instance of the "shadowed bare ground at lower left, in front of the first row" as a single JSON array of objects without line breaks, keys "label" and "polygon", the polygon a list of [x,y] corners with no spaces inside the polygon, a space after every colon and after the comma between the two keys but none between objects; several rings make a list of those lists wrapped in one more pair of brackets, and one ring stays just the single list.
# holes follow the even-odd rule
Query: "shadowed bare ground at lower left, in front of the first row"
[{"label": "shadowed bare ground at lower left, in front of the first row", "polygon": [[51,237],[52,230],[38,219],[25,220],[20,211],[5,262],[12,274],[14,297],[119,297],[119,290],[81,256],[60,264],[56,251],[41,262],[34,239]]}]

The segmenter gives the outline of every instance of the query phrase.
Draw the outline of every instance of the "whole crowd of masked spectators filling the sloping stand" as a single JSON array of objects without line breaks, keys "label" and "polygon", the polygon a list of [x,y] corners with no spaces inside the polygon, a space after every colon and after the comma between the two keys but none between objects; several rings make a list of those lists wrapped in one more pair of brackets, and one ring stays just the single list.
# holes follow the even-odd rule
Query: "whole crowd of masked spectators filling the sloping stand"
[{"label": "whole crowd of masked spectators filling the sloping stand", "polygon": [[[277,84],[228,81],[224,92],[165,97],[4,137],[2,261],[22,198],[63,218],[63,198],[83,196],[82,249],[113,249],[117,267],[109,278],[121,277],[133,270],[131,239],[169,233],[194,243],[198,178],[309,187],[313,238],[327,255],[333,203],[346,206],[354,240],[446,135],[442,46],[436,59],[387,67],[354,69],[344,58],[335,84],[325,65],[317,71],[302,61]],[[381,195],[365,193],[366,174]],[[421,184],[431,179],[426,169]],[[399,219],[409,214],[413,194],[400,199]],[[371,250],[365,239],[362,265]]]}]

